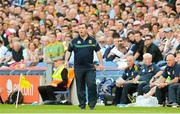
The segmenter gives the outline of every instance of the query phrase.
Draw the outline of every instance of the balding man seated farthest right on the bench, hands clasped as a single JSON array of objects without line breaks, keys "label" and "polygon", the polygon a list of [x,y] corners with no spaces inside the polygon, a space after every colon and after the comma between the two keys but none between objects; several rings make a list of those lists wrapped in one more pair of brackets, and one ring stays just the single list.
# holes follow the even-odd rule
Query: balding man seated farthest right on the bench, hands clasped
[{"label": "balding man seated farthest right on the bench, hands clasped", "polygon": [[167,66],[157,85],[155,95],[159,104],[163,104],[166,100],[166,95],[168,95],[168,105],[178,106],[175,88],[179,85],[177,82],[179,81],[180,76],[180,65],[176,63],[175,57],[171,53],[166,56],[166,62]]}]

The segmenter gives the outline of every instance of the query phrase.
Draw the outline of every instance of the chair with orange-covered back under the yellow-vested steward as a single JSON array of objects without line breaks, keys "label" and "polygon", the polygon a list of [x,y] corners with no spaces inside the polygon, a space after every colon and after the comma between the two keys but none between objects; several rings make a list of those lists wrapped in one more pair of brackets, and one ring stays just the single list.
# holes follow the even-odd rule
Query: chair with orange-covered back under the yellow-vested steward
[{"label": "chair with orange-covered back under the yellow-vested steward", "polygon": [[67,101],[71,101],[71,92],[70,92],[70,86],[74,79],[74,69],[69,68],[68,69],[68,83],[67,83],[67,90],[66,91],[54,91],[56,94],[57,100],[60,100],[61,95],[64,95],[64,99]]}]

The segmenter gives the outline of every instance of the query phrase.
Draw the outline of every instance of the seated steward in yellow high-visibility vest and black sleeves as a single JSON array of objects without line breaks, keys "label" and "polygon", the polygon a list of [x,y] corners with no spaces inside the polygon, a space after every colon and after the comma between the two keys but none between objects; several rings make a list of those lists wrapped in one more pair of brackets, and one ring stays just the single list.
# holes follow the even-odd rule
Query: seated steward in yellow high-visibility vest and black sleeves
[{"label": "seated steward in yellow high-visibility vest and black sleeves", "polygon": [[42,100],[45,104],[56,103],[54,91],[65,91],[68,83],[68,70],[62,65],[62,60],[54,60],[56,71],[53,73],[53,81],[46,86],[38,88]]}]

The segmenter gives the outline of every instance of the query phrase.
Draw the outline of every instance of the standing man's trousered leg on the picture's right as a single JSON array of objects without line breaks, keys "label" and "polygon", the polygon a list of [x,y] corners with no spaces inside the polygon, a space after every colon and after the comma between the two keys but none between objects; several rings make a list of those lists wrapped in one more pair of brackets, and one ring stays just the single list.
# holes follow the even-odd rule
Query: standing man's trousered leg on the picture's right
[{"label": "standing man's trousered leg on the picture's right", "polygon": [[97,102],[96,71],[86,71],[86,83],[88,88],[89,107],[93,109]]}]

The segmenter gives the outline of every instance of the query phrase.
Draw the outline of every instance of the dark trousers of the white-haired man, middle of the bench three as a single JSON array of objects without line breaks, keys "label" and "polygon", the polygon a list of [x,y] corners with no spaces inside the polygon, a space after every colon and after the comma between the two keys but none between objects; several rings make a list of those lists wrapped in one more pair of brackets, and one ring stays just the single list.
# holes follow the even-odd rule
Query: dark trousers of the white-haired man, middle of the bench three
[{"label": "dark trousers of the white-haired man, middle of the bench three", "polygon": [[132,95],[134,92],[138,92],[138,95],[143,95],[150,90],[149,84],[147,82],[143,82],[140,84],[127,83],[124,84],[122,96],[121,96],[121,104],[128,104],[130,100],[128,99],[128,94]]}]

